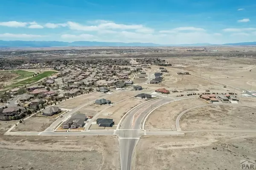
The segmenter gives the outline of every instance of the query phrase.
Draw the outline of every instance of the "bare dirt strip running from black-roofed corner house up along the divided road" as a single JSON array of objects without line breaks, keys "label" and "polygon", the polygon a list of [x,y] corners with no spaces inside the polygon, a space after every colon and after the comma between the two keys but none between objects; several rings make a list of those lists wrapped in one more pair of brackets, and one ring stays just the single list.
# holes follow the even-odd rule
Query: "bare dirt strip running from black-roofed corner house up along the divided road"
[{"label": "bare dirt strip running from black-roofed corner house up along the divided road", "polygon": [[143,103],[144,100],[137,99],[137,98],[129,98],[127,100],[124,100],[116,105],[113,105],[112,107],[109,107],[105,110],[101,115],[99,115],[99,118],[113,118],[113,121],[115,124],[118,124],[120,119],[123,115],[125,115],[128,110],[135,107],[136,105]]}]

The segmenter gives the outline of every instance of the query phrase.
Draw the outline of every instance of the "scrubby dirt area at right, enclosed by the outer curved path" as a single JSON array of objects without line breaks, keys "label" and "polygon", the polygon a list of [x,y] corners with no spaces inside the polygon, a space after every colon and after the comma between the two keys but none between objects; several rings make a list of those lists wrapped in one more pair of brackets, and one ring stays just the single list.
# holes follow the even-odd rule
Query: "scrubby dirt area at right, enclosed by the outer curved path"
[{"label": "scrubby dirt area at right, enclosed by the outer curved path", "polygon": [[182,130],[255,129],[256,108],[215,105],[192,109],[180,120]]}]

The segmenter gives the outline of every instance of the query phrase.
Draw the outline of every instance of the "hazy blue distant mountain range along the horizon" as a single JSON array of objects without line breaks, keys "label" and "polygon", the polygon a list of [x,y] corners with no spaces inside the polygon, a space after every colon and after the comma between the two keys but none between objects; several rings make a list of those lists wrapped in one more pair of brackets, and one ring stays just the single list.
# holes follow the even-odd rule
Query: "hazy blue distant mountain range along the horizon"
[{"label": "hazy blue distant mountain range along the horizon", "polygon": [[109,43],[96,41],[74,41],[72,43],[63,41],[4,41],[0,40],[0,47],[67,47],[67,46],[254,46],[256,42],[245,43],[226,43],[220,45],[213,45],[210,43],[194,43],[194,44],[155,44],[155,43]]}]

